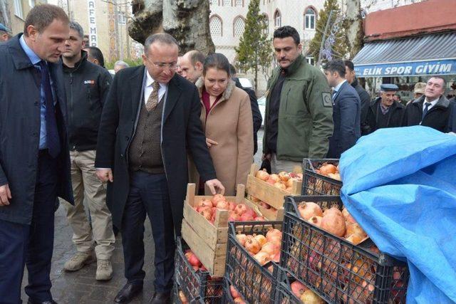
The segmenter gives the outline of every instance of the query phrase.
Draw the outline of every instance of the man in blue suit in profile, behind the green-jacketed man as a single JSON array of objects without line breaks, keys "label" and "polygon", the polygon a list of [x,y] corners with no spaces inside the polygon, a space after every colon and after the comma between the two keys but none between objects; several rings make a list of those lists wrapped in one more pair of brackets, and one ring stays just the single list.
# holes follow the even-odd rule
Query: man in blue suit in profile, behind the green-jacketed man
[{"label": "man in blue suit in profile, behind the green-jacketed man", "polygon": [[329,139],[328,158],[340,158],[361,137],[361,100],[344,78],[345,72],[345,64],[340,59],[328,62],[324,68],[329,86],[333,88],[334,132]]}]

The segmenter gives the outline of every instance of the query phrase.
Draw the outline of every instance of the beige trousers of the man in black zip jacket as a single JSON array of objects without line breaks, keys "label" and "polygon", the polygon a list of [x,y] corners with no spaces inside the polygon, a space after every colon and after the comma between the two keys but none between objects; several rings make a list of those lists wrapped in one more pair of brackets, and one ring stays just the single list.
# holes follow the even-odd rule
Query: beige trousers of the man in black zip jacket
[{"label": "beige trousers of the man in black zip jacket", "polygon": [[[71,183],[75,205],[65,203],[66,217],[73,229],[73,243],[80,252],[92,251],[98,259],[109,259],[114,250],[113,219],[106,206],[106,185],[95,174],[95,150],[71,151]],[[84,210],[90,210],[90,226]]]}]

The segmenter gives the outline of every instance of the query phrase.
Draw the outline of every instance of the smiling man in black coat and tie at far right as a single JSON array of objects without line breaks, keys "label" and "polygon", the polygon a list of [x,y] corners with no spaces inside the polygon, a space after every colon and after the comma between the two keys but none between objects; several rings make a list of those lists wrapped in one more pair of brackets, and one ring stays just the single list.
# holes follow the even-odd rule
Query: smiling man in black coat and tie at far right
[{"label": "smiling man in black coat and tie at far right", "polygon": [[446,80],[440,76],[432,76],[427,80],[425,95],[413,100],[405,108],[402,125],[425,125],[445,132],[452,109],[444,95],[446,85]]}]

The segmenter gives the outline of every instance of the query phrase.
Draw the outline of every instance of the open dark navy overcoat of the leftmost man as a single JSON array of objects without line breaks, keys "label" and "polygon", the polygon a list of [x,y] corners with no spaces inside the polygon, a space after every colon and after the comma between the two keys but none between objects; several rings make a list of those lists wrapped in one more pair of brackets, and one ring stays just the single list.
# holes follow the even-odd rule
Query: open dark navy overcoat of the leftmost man
[{"label": "open dark navy overcoat of the leftmost man", "polygon": [[[30,224],[38,169],[41,73],[22,49],[20,36],[0,43],[0,185],[9,184],[12,196],[9,206],[0,207],[0,219]],[[62,148],[57,158],[58,196],[73,204],[62,63],[48,66]]]}]

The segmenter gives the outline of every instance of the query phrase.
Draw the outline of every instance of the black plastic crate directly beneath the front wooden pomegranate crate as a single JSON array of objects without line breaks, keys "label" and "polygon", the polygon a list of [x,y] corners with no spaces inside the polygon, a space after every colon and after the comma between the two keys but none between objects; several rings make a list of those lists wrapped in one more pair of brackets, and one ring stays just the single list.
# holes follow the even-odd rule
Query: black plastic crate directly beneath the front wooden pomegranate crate
[{"label": "black plastic crate directly beneath the front wooden pomegranate crate", "polygon": [[209,271],[195,271],[185,257],[188,246],[177,238],[175,285],[184,292],[190,303],[222,303],[223,280],[212,280]]}]

